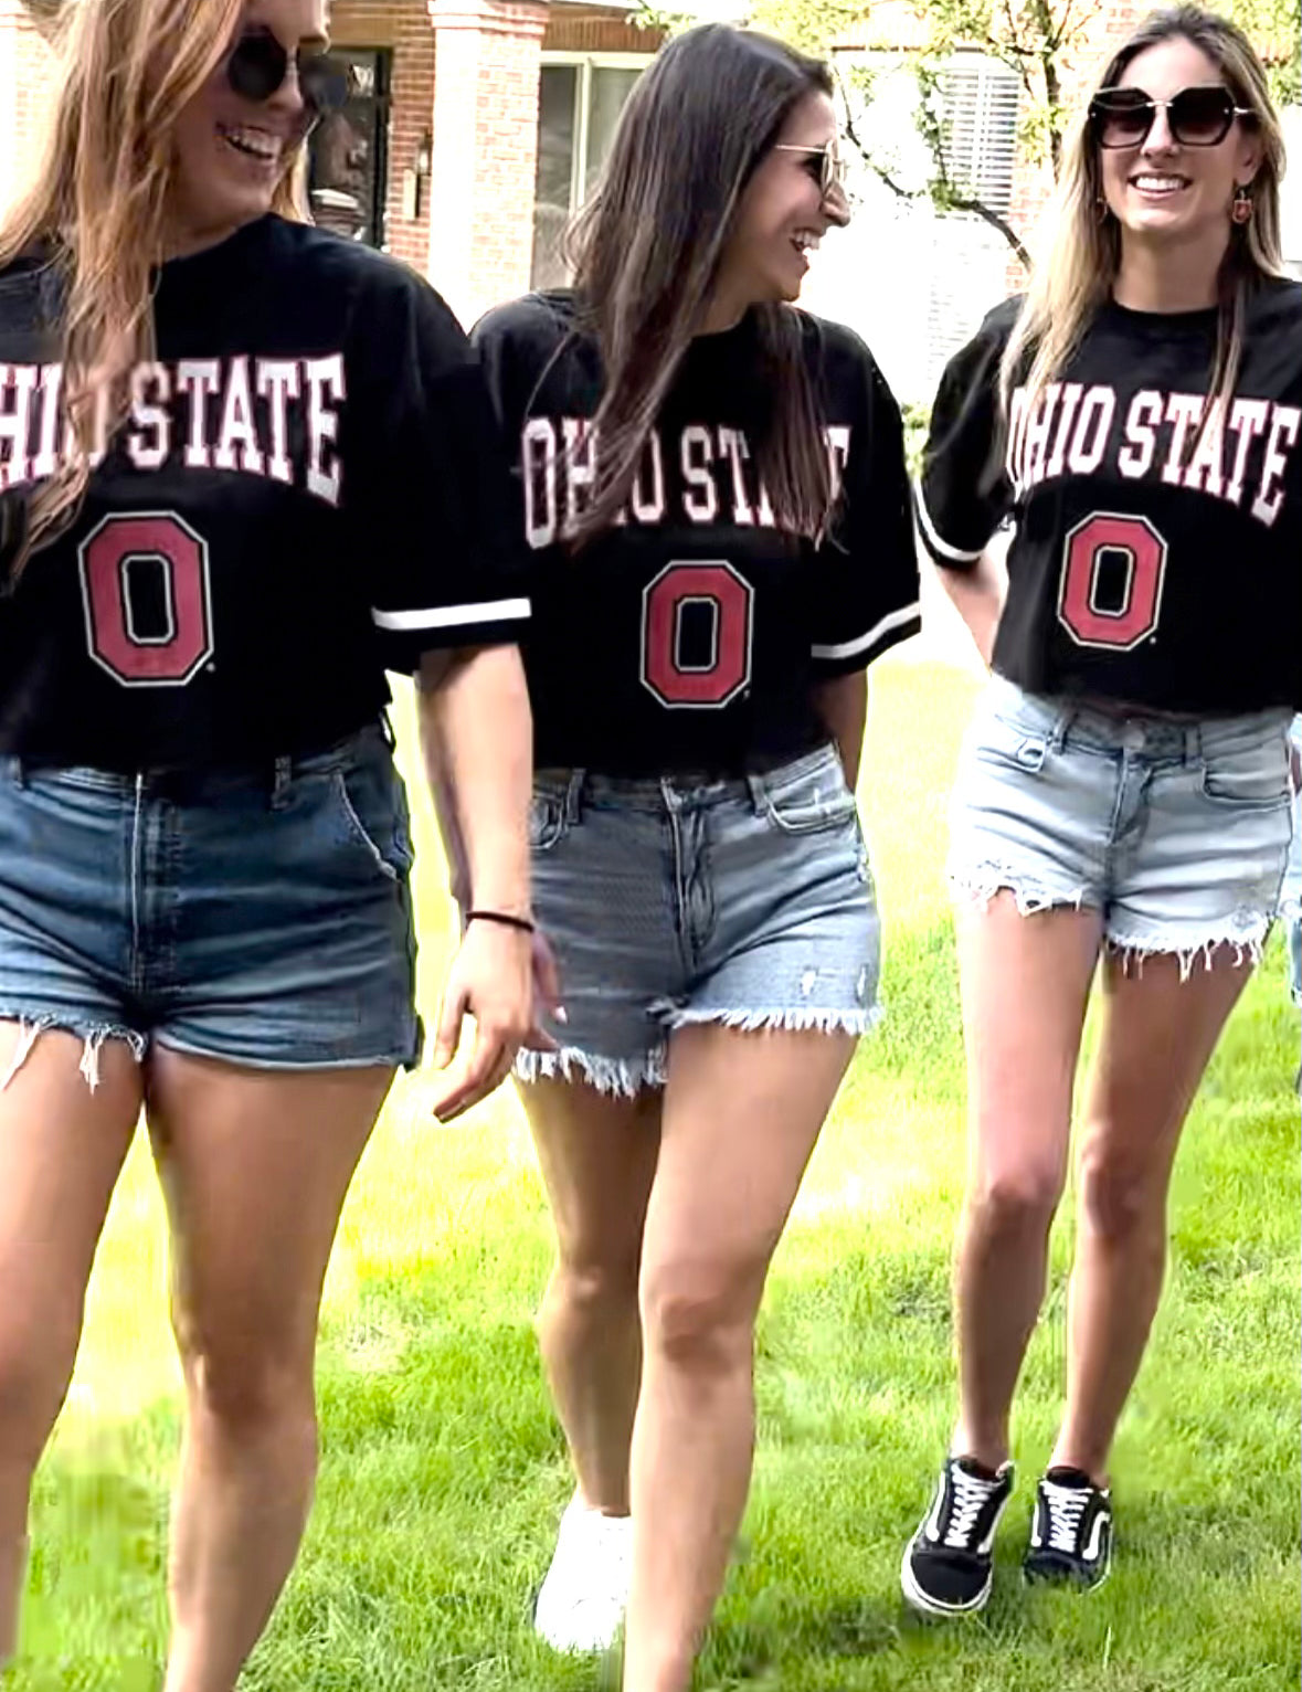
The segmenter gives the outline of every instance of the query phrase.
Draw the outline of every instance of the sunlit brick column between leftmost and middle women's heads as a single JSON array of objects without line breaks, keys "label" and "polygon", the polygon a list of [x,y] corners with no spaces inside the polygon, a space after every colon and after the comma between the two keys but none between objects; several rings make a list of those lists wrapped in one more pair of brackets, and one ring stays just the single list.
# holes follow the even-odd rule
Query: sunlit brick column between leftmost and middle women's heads
[{"label": "sunlit brick column between leftmost and middle women's heads", "polygon": [[546,0],[429,0],[429,279],[468,325],[529,286]]}]

